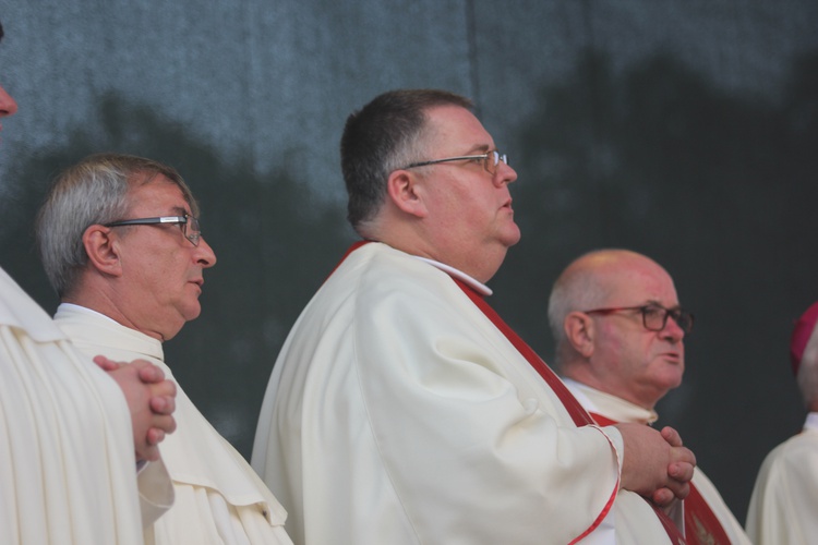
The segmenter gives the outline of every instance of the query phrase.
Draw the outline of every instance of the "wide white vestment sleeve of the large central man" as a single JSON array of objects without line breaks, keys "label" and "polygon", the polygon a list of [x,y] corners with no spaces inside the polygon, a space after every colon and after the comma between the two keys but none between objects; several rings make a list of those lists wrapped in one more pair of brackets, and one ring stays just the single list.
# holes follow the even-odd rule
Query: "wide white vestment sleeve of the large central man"
[{"label": "wide white vestment sleeve of the large central man", "polygon": [[468,532],[528,543],[532,526],[569,542],[617,487],[621,436],[575,427],[459,289],[416,287],[362,294],[352,332],[371,431],[409,519],[441,543]]}]

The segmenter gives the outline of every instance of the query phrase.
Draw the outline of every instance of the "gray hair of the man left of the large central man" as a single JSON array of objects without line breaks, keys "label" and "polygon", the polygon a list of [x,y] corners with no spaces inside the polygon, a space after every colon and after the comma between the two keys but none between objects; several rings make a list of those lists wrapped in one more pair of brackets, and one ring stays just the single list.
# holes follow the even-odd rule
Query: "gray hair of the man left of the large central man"
[{"label": "gray hair of the man left of the large central man", "polygon": [[43,266],[59,296],[70,292],[88,263],[83,245],[85,230],[130,219],[123,217],[131,204],[129,190],[137,183],[151,183],[159,174],[181,189],[193,216],[199,216],[199,205],[179,172],[151,159],[92,155],[57,177],[37,215],[36,231]]}]

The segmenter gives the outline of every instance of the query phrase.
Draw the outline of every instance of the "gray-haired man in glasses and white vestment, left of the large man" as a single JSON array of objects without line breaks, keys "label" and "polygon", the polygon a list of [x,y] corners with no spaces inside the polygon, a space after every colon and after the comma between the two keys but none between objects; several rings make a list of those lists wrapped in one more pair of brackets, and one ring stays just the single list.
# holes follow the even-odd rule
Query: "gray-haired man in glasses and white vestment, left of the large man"
[{"label": "gray-haired man in glasses and white vestment, left of the large man", "polygon": [[[182,177],[142,157],[86,157],[57,177],[37,217],[37,241],[61,300],[55,322],[74,344],[142,358],[172,376],[163,343],[199,317],[204,270],[216,264]],[[145,542],[291,543],[287,513],[246,460],[182,388],[177,405],[179,431],[163,445],[176,502]]]}]

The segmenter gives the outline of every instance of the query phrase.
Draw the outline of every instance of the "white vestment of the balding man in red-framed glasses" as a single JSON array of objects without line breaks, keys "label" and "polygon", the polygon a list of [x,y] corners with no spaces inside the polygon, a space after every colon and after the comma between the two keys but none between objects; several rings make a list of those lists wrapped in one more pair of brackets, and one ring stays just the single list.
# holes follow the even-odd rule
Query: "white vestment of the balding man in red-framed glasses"
[{"label": "white vestment of the balding man in red-framed glasses", "polygon": [[[566,378],[564,382],[579,402],[582,403],[582,407],[591,413],[601,414],[614,422],[648,425],[655,422],[659,417],[655,411],[636,405],[576,380]],[[707,507],[710,508],[710,511],[721,525],[730,543],[733,545],[750,545],[747,534],[724,502],[724,499],[722,499],[715,485],[713,485],[699,467],[696,467],[694,470],[693,485],[698,491],[701,499],[707,504]],[[691,524],[691,528],[686,528],[686,537],[688,543],[713,543],[714,541],[712,536],[706,534],[702,524]]]}]

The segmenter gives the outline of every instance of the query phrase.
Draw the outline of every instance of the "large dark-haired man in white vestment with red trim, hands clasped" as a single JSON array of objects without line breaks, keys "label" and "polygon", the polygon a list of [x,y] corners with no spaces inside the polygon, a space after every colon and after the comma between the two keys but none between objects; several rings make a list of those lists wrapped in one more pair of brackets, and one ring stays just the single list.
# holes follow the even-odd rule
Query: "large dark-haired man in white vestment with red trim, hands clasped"
[{"label": "large dark-haired man in white vestment with red trim, hands clasped", "polygon": [[395,90],[347,120],[349,219],[369,242],[290,331],[253,465],[298,543],[681,538],[651,506],[687,494],[678,434],[592,425],[483,300],[520,238],[517,173],[471,106]]}]

